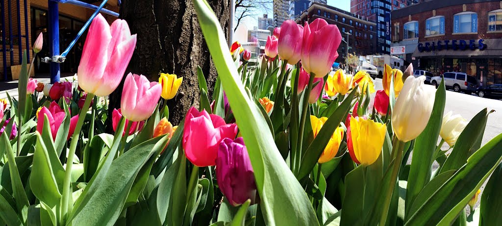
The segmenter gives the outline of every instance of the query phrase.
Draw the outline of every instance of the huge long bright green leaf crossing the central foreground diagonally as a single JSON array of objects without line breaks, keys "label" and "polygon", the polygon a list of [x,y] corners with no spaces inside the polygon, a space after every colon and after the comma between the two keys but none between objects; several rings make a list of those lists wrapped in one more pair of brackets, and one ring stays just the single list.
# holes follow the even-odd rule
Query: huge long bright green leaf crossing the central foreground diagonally
[{"label": "huge long bright green leaf crossing the central foreground diagonally", "polygon": [[[255,171],[267,224],[319,225],[312,204],[282,159],[260,109],[245,93],[228,51],[225,35],[207,2],[193,2],[205,41],[228,94],[235,120]],[[288,209],[288,211],[284,211]]]}]

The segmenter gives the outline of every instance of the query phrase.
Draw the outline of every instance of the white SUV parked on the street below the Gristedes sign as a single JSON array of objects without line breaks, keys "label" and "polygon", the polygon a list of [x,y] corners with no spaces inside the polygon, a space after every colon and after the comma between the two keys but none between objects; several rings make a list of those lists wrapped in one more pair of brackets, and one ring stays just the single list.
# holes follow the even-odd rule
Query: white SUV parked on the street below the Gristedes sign
[{"label": "white SUV parked on the street below the Gristedes sign", "polygon": [[462,72],[445,72],[441,76],[434,76],[431,78],[431,84],[437,87],[441,78],[444,78],[446,88],[452,88],[455,92],[464,91],[471,94],[479,87],[479,81],[474,76]]}]

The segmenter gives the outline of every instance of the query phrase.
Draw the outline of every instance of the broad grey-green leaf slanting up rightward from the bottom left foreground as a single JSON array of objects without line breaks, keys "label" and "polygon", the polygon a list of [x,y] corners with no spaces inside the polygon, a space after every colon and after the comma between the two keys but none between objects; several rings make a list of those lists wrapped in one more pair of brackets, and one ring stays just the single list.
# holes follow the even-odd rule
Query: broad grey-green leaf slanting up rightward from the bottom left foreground
[{"label": "broad grey-green leaf slanting up rightward from the bottom left foreground", "polygon": [[120,215],[138,172],[148,159],[164,149],[167,141],[167,136],[151,139],[115,159],[99,187],[74,215],[73,224],[113,225]]}]

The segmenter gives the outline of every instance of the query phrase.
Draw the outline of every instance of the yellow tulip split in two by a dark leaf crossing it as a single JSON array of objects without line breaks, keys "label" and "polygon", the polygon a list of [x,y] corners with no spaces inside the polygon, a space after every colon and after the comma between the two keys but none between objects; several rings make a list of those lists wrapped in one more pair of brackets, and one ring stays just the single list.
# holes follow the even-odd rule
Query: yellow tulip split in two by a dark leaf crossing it
[{"label": "yellow tulip split in two by a dark leaf crossing it", "polygon": [[[319,131],[321,130],[324,123],[326,123],[326,120],[328,120],[328,118],[326,117],[321,117],[320,119],[318,119],[315,116],[310,116],[310,124],[312,125],[312,132],[314,134],[314,138],[319,134]],[[336,128],[333,135],[331,135],[328,144],[324,148],[321,157],[319,157],[319,160],[317,161],[318,163],[322,164],[328,162],[329,160],[335,157],[336,153],[338,153],[338,148],[340,147],[340,143],[342,142],[343,133],[344,133],[343,128],[341,127]]]}]

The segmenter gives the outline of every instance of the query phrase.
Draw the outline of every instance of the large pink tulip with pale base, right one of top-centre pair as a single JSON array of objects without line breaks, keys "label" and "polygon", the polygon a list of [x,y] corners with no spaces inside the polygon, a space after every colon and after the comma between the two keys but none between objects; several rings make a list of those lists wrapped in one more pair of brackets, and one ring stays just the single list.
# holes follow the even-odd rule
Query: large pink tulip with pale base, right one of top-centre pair
[{"label": "large pink tulip with pale base, right one of top-centre pair", "polygon": [[324,77],[338,57],[336,50],[342,37],[336,25],[316,19],[303,29],[302,65],[308,73]]}]

